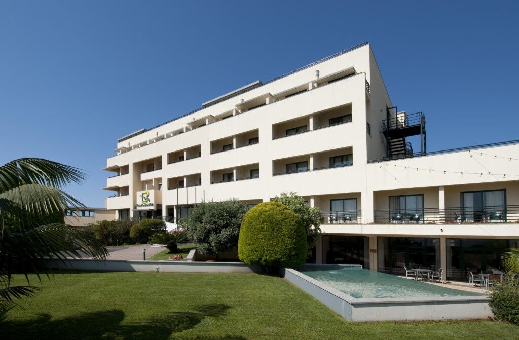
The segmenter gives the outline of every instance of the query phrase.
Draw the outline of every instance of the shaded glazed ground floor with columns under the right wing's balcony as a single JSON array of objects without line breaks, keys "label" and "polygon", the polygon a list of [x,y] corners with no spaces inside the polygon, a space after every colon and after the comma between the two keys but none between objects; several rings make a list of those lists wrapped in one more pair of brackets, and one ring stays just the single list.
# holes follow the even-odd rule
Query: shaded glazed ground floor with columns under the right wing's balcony
[{"label": "shaded glazed ground floor with columns under the right wing's balcony", "polygon": [[469,272],[502,269],[500,256],[519,248],[519,238],[393,237],[323,234],[315,250],[318,264],[361,264],[388,274],[407,268],[444,268],[446,280],[468,280]]}]

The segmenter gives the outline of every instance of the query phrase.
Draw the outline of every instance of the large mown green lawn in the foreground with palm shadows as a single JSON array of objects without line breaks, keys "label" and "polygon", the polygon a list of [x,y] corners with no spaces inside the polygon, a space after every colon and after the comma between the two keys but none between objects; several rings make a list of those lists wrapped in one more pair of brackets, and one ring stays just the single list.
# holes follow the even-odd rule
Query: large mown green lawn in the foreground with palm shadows
[{"label": "large mown green lawn in the foreground with palm shadows", "polygon": [[[23,277],[15,276],[18,284]],[[34,280],[34,277],[31,277]],[[37,282],[37,281],[35,281]],[[57,274],[25,310],[0,322],[5,339],[512,339],[493,321],[348,322],[282,278],[256,274]]]}]

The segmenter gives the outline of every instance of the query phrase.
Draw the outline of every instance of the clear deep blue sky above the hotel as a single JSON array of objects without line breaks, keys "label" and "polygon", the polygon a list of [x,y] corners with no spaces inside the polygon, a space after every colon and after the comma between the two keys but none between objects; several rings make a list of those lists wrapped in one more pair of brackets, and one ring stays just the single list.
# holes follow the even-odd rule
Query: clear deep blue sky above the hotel
[{"label": "clear deep blue sky above the hotel", "polygon": [[518,139],[517,2],[1,1],[0,163],[84,169],[103,206],[116,140],[368,41],[430,151]]}]

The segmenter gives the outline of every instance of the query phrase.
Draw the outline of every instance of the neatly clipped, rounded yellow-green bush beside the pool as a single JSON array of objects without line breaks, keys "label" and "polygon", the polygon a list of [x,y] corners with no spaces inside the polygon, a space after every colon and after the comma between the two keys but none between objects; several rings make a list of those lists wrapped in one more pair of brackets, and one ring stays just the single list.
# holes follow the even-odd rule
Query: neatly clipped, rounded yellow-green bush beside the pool
[{"label": "neatly clipped, rounded yellow-green bush beside the pool", "polygon": [[263,202],[245,214],[238,256],[247,264],[294,267],[305,263],[306,231],[295,212],[280,202]]}]

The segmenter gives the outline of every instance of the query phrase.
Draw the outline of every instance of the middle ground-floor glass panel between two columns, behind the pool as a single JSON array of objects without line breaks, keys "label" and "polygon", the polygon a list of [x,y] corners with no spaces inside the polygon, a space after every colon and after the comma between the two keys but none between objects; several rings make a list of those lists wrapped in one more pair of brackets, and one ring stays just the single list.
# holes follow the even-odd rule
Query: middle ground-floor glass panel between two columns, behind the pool
[{"label": "middle ground-floor glass panel between two columns, behind the pool", "polygon": [[378,271],[405,275],[407,268],[440,267],[440,239],[378,237]]}]

